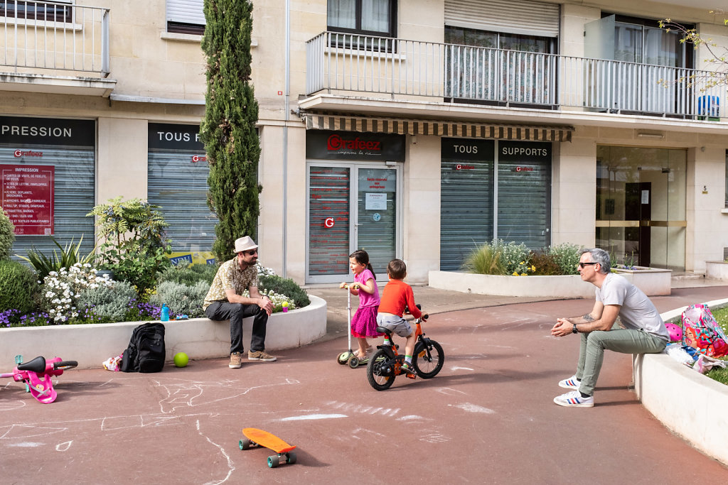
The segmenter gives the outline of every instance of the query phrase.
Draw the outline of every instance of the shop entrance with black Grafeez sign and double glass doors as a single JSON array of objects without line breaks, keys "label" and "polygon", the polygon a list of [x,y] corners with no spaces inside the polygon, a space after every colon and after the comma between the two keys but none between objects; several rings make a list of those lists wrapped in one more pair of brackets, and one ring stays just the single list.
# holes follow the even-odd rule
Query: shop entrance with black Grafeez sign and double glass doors
[{"label": "shop entrance with black Grafeez sign and double glass doors", "polygon": [[405,137],[306,132],[306,283],[349,276],[349,254],[368,252],[377,279],[402,254]]}]

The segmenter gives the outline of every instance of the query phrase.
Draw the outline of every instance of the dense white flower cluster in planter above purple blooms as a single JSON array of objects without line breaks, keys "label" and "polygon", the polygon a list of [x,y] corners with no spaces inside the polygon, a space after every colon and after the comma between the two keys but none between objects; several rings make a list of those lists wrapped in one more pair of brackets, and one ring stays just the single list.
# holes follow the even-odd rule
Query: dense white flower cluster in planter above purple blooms
[{"label": "dense white flower cluster in planter above purple blooms", "polygon": [[95,268],[91,265],[76,262],[70,268],[61,268],[59,271],[51,271],[43,279],[43,290],[41,292],[44,306],[53,321],[59,323],[67,321],[71,316],[76,315],[76,300],[86,288],[98,288],[99,286],[114,286],[114,281],[104,275],[103,278],[96,276]]}]

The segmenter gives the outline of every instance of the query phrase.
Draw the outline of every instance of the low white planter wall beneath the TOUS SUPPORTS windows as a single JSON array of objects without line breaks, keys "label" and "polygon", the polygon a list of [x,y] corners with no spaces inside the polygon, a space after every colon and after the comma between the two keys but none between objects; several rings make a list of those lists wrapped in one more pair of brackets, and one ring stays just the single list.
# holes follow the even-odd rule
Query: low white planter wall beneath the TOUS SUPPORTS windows
[{"label": "low white planter wall beneath the TOUS SUPPORTS windows", "polygon": [[504,297],[590,298],[594,286],[579,275],[499,276],[453,271],[430,271],[430,286],[454,292]]}]

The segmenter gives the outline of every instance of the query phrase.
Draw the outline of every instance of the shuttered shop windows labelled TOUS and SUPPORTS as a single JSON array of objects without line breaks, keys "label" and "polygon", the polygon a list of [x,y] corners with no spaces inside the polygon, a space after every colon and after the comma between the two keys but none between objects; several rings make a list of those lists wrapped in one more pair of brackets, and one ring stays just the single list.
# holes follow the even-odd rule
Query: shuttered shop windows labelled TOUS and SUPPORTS
[{"label": "shuttered shop windows labelled TOUS and SUPPORTS", "polygon": [[494,239],[550,245],[552,144],[443,138],[440,270]]}]

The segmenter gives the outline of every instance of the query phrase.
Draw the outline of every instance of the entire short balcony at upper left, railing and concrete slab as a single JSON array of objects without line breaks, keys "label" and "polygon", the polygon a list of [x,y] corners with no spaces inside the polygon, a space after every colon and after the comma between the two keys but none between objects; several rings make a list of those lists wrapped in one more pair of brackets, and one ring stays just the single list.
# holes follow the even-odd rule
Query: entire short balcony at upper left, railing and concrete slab
[{"label": "entire short balcony at upper left, railing and concrete slab", "polygon": [[108,96],[105,7],[0,0],[0,89]]}]

